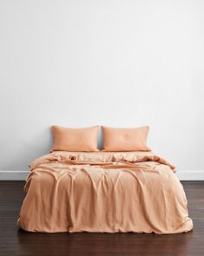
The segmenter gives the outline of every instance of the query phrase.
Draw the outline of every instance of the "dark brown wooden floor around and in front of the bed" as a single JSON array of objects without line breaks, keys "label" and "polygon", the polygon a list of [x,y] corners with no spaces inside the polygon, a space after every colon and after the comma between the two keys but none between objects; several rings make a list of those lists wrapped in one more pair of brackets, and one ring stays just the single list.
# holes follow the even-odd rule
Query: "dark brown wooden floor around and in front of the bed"
[{"label": "dark brown wooden floor around and in front of the bed", "polygon": [[23,184],[0,181],[0,255],[204,255],[204,181],[182,182],[194,231],[168,235],[23,232],[16,226]]}]

